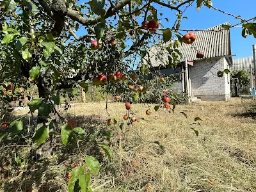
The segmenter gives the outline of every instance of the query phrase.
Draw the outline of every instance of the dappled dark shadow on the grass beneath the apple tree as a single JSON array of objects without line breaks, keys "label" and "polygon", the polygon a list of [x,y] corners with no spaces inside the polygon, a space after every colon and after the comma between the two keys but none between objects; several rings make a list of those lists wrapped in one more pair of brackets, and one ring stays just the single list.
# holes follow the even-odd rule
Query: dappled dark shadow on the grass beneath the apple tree
[{"label": "dappled dark shadow on the grass beneath the apple tree", "polygon": [[[13,120],[17,118],[20,118],[20,116],[12,116]],[[84,140],[79,141],[81,152],[85,156],[95,157],[100,164],[104,163],[106,161],[104,159],[105,155],[97,142],[104,143],[108,140],[108,136],[102,134],[106,122],[96,115],[65,116],[65,118],[76,120],[77,127],[81,127],[85,131]],[[35,125],[36,119],[36,116],[34,116],[33,122]],[[47,138],[45,143],[33,149],[26,139],[33,136],[35,127],[30,127],[28,132],[28,117],[22,118],[22,122],[24,123],[24,130],[20,132],[19,136],[14,136],[12,140],[4,140],[0,143],[0,176],[6,174],[6,177],[2,178],[3,180],[0,177],[0,188],[4,192],[27,192],[32,188],[37,189],[38,192],[67,191],[68,181],[65,173],[71,172],[74,168],[72,165],[74,162],[80,162],[76,139],[65,146],[61,143],[60,136],[56,135]],[[61,132],[63,124],[65,122],[58,122],[56,132]],[[15,159],[17,156],[21,159],[19,165],[17,165],[17,159]],[[18,171],[20,173],[17,175],[15,172]],[[115,171],[111,172],[115,173]]]}]

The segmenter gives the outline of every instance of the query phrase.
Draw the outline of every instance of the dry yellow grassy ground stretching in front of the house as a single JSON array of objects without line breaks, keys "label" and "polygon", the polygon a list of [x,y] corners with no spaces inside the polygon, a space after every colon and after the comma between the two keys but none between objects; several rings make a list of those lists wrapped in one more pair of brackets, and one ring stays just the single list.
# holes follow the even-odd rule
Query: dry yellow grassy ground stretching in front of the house
[{"label": "dry yellow grassy ground stretching in front of the house", "polygon": [[[256,191],[255,107],[251,101],[242,104],[237,99],[201,102],[176,106],[171,115],[164,109],[155,112],[152,105],[153,113],[147,116],[146,105],[134,104],[132,111],[145,120],[132,126],[124,122],[122,130],[115,125],[106,127],[105,122],[108,113],[123,122],[123,103],[109,103],[108,113],[104,103],[86,103],[62,114],[77,118],[84,129],[107,129],[114,134],[113,163],[88,143],[81,147],[102,165],[99,176],[92,179],[93,191]],[[202,119],[201,126],[193,124],[197,116]],[[3,156],[3,147],[1,150]],[[21,174],[0,180],[3,191],[22,191],[19,186],[25,184],[34,191],[67,191],[65,173],[79,159],[77,150],[65,150],[61,148],[61,154],[56,152],[58,157],[52,156],[47,162],[30,164],[26,180],[20,180]]]}]

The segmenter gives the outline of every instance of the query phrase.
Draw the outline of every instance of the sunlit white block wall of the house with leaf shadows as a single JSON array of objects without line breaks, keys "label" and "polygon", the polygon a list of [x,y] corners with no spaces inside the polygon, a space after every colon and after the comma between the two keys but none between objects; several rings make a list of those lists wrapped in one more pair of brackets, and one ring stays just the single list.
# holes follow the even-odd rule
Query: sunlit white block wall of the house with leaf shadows
[{"label": "sunlit white block wall of the house with leaf shadows", "polygon": [[[224,74],[218,77],[217,72],[228,68],[225,58],[216,58],[212,61],[195,61],[189,66],[192,95],[202,100],[228,100],[230,98],[229,76]],[[211,66],[210,66],[211,65]]]}]

